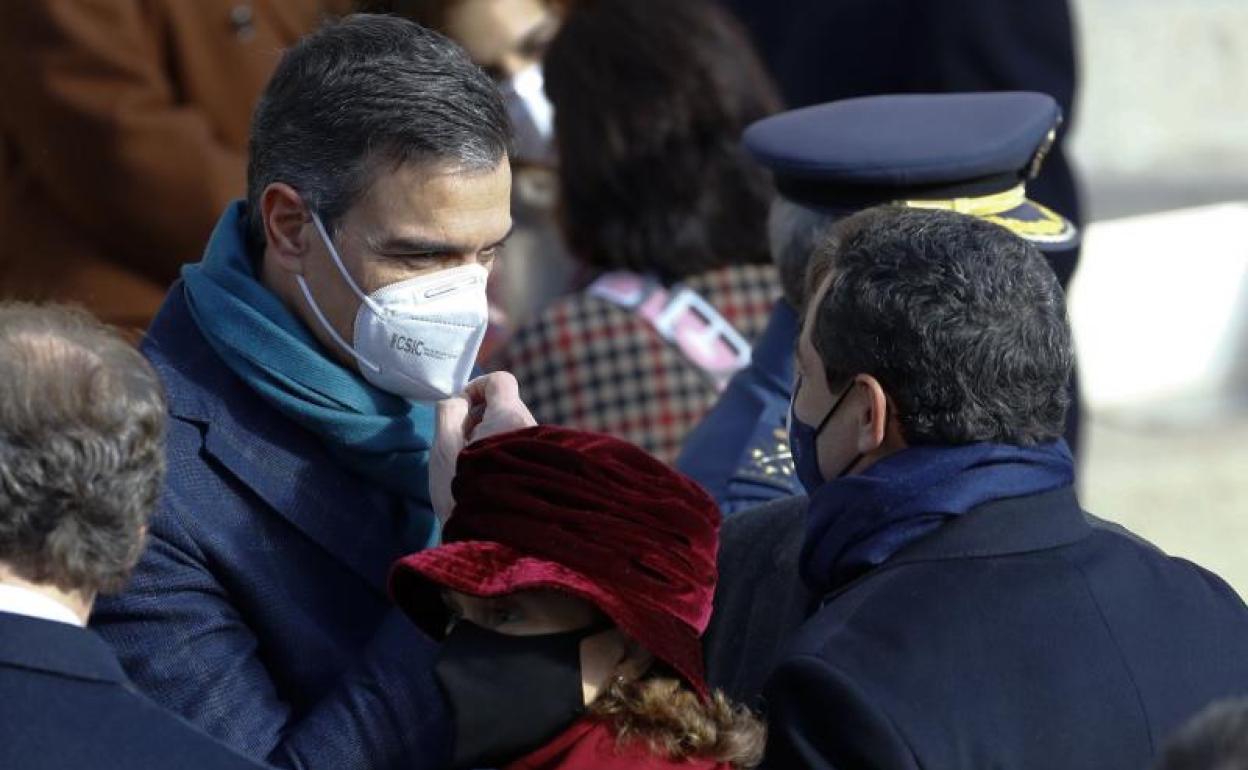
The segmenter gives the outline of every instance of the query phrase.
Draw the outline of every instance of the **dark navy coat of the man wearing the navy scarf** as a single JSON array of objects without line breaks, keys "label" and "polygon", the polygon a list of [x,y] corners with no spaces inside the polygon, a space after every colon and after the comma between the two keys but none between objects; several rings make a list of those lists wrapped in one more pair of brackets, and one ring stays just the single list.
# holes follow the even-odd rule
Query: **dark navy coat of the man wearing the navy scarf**
[{"label": "dark navy coat of the man wearing the navy scarf", "polygon": [[996,500],[825,597],[773,673],[765,768],[1139,770],[1248,694],[1248,608],[1087,517]]}]

